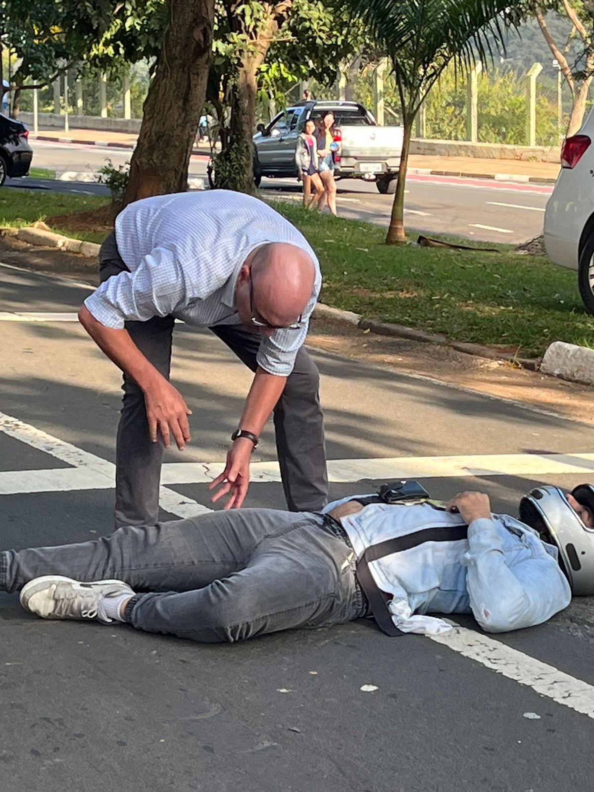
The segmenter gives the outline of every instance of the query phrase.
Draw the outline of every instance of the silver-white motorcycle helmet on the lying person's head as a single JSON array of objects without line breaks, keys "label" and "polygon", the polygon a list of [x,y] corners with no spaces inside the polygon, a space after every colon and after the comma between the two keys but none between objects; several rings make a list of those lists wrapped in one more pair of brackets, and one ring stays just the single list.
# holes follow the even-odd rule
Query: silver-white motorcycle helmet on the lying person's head
[{"label": "silver-white motorcycle helmet on the lying person's head", "polygon": [[[592,485],[581,484],[571,494],[594,514]],[[594,594],[594,529],[588,528],[571,508],[562,489],[531,489],[520,501],[520,520],[539,531],[544,542],[557,546],[573,594]]]}]

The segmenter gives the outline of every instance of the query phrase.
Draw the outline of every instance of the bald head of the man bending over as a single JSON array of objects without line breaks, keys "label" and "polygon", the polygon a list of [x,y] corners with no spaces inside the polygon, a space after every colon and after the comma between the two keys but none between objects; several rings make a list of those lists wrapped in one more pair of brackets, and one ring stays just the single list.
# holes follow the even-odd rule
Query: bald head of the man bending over
[{"label": "bald head of the man bending over", "polygon": [[291,325],[314,291],[314,261],[305,250],[287,242],[270,242],[251,257],[253,310],[269,325]]}]

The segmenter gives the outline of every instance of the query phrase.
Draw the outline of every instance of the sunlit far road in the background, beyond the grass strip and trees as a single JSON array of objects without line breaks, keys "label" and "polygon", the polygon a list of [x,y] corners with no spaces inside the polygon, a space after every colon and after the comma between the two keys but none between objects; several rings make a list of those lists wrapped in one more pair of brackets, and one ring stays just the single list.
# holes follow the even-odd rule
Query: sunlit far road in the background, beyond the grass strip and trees
[{"label": "sunlit far road in the background, beyond the grass strip and trees", "polygon": [[[34,149],[34,166],[59,172],[92,172],[104,165],[106,158],[117,166],[131,157],[129,150],[74,143],[36,141]],[[189,173],[191,177],[204,177],[205,158],[192,157]],[[27,183],[20,181],[22,185]],[[550,185],[414,174],[409,175],[407,185],[406,223],[410,228],[488,242],[525,242],[542,233],[544,208],[552,192]],[[295,179],[264,179],[262,188],[271,196],[294,195],[295,200],[299,200],[301,192]],[[93,192],[97,187],[69,185],[66,189]],[[343,217],[387,226],[392,202],[393,196],[380,195],[372,182],[354,179],[338,182],[338,208]]]}]

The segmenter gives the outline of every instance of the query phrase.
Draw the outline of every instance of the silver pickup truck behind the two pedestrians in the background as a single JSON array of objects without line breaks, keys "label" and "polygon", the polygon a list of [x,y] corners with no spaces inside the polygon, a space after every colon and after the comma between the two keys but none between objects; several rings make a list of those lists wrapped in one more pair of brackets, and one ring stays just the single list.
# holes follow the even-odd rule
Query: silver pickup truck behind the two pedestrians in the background
[{"label": "silver pickup truck behind the two pedestrians in the background", "polygon": [[295,148],[307,119],[334,114],[335,139],[341,143],[334,175],[375,181],[379,192],[394,192],[402,152],[402,127],[379,127],[363,105],[349,101],[302,101],[280,112],[268,126],[258,124],[253,136],[253,175],[297,176]]}]

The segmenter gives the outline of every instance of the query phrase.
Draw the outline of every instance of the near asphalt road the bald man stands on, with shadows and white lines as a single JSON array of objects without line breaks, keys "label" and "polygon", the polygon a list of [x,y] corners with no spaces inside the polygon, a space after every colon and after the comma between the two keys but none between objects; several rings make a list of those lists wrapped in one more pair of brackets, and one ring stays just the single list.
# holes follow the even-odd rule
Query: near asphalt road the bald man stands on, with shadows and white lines
[{"label": "near asphalt road the bald man stands on, with shadows and white lines", "polygon": [[[0,549],[109,535],[120,378],[70,321],[86,290],[0,272]],[[333,497],[413,469],[434,497],[477,486],[516,513],[533,483],[592,470],[590,425],[312,353]],[[194,440],[167,459],[165,517],[210,505],[204,463],[222,463],[249,373],[180,325],[173,379]],[[247,505],[282,508],[269,428],[257,454]],[[576,708],[594,711],[590,600],[490,640],[456,621],[444,642],[363,620],[197,645],[44,622],[0,594],[0,790],[589,790],[594,723]]]}]

